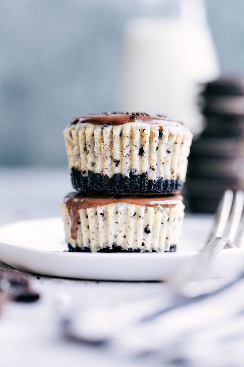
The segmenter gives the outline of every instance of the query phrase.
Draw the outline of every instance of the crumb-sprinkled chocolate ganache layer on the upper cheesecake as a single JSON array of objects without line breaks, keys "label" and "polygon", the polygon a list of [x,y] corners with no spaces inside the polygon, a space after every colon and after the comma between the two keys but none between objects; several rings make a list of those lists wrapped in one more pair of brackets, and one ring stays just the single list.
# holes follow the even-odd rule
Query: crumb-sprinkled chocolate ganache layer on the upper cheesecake
[{"label": "crumb-sprinkled chocolate ganache layer on the upper cheesecake", "polygon": [[129,122],[143,122],[151,125],[183,125],[179,121],[174,121],[163,115],[149,115],[144,112],[107,112],[97,115],[78,116],[71,120],[71,125],[80,123],[91,123],[95,125],[123,125]]}]

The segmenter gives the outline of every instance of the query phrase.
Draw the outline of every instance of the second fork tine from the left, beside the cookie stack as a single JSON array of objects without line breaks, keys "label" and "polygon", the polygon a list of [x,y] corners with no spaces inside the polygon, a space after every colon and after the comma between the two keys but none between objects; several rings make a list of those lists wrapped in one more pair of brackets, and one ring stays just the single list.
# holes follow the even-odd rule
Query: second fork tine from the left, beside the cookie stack
[{"label": "second fork tine from the left, beside the cookie stack", "polygon": [[244,192],[242,190],[238,190],[234,195],[232,210],[230,212],[230,216],[228,219],[229,223],[229,231],[225,234],[232,242],[237,233],[237,229],[240,224],[241,215],[243,212],[244,206]]}]

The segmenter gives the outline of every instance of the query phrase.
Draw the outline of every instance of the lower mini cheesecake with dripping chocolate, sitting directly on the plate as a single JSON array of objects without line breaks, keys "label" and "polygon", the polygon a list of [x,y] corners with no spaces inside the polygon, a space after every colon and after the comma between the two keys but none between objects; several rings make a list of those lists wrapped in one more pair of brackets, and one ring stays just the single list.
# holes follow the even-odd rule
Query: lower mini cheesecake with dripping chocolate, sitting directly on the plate
[{"label": "lower mini cheesecake with dripping chocolate, sitting directly on the plate", "polygon": [[181,195],[70,193],[62,214],[76,252],[174,252],[184,218]]}]

